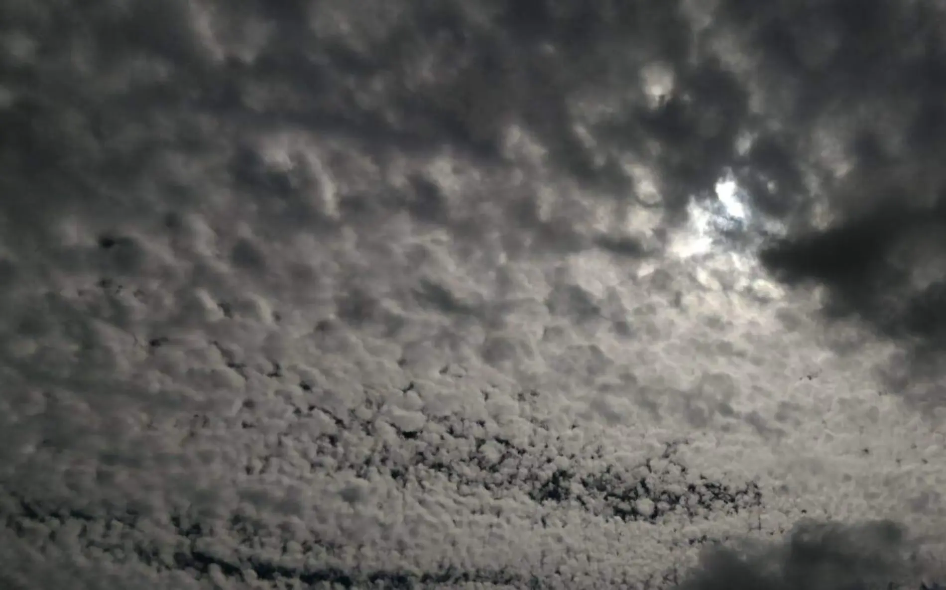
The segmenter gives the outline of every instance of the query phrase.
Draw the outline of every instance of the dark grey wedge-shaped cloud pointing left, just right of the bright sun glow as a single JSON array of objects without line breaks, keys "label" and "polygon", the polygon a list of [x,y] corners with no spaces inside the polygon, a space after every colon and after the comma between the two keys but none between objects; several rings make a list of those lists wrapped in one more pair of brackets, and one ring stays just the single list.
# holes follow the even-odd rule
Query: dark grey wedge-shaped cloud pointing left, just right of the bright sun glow
[{"label": "dark grey wedge-shaped cloud pointing left, just right of the bright sun glow", "polygon": [[[827,229],[775,241],[762,250],[761,260],[789,285],[826,286],[829,320],[863,321],[902,342],[911,351],[907,362],[925,364],[946,344],[946,203],[916,202],[908,183],[889,190],[875,196],[868,188],[863,197],[873,204],[850,207],[847,217]],[[927,396],[923,402],[942,400]]]}]

